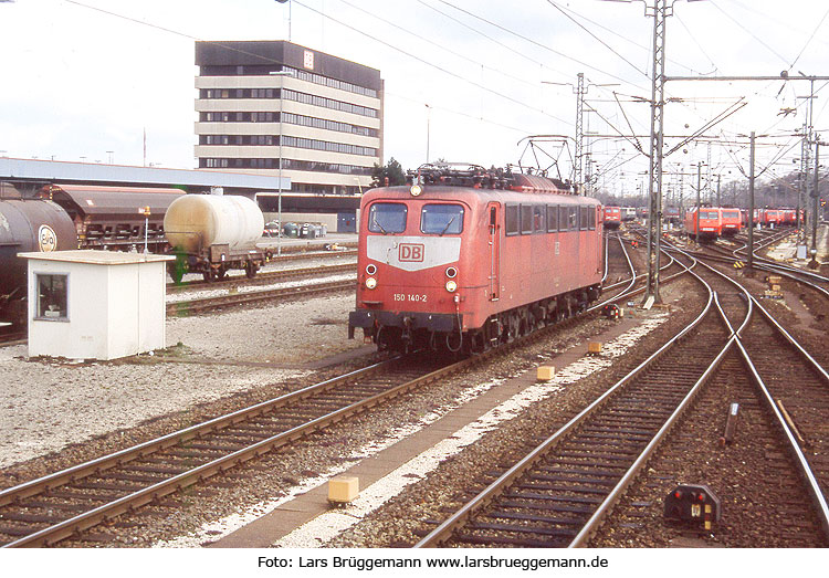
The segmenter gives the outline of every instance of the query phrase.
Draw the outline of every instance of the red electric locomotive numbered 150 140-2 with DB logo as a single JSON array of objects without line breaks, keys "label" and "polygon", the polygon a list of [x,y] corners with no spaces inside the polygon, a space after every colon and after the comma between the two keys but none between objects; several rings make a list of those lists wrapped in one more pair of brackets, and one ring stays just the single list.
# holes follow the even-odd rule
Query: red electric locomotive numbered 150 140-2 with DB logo
[{"label": "red electric locomotive numbered 150 140-2 with DB logo", "polygon": [[563,183],[421,167],[363,197],[356,309],[378,349],[481,353],[584,309],[601,292],[601,207]]}]

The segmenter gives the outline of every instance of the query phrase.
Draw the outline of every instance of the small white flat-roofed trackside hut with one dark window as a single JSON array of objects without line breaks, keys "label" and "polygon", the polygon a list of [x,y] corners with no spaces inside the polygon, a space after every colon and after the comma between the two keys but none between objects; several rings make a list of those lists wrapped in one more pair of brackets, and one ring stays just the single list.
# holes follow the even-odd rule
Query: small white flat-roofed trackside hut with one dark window
[{"label": "small white flat-roofed trackside hut with one dark window", "polygon": [[29,356],[116,359],[165,347],[172,256],[112,251],[29,260]]}]

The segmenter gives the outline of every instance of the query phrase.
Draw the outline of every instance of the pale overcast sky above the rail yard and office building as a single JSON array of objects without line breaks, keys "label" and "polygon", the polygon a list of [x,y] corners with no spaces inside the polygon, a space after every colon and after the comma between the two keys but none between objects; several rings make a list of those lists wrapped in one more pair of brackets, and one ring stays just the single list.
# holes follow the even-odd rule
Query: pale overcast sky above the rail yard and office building
[{"label": "pale overcast sky above the rail yard and office building", "polygon": [[[0,155],[195,168],[195,40],[290,40],[378,69],[386,81],[386,158],[534,165],[529,135],[569,137],[537,154],[570,171],[575,83],[586,77],[585,129],[647,135],[653,19],[642,1],[604,0],[17,0],[0,1]],[[648,0],[652,4],[652,0]],[[96,10],[99,9],[99,10]],[[108,13],[107,13],[108,12]],[[291,19],[288,21],[288,14]],[[826,0],[678,0],[667,74],[829,75]],[[290,31],[288,31],[290,22]],[[550,84],[562,83],[562,84]],[[612,84],[612,86],[607,86]],[[814,126],[829,132],[827,82]],[[747,170],[759,139],[764,177],[796,167],[809,82],[670,82],[667,150],[742,98],[746,105],[665,158]],[[781,111],[789,109],[788,114]],[[826,138],[829,138],[827,135]],[[647,138],[639,143],[648,150]],[[636,191],[647,160],[625,138],[594,138],[600,183]],[[546,155],[549,155],[547,158]],[[555,170],[555,169],[554,169]],[[707,170],[707,169],[706,169]]]}]

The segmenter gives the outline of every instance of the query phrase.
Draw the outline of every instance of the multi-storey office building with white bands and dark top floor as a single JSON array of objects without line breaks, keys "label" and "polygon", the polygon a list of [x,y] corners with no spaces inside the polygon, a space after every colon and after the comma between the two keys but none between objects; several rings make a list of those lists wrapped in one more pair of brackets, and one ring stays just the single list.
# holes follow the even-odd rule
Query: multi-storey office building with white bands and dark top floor
[{"label": "multi-storey office building with white bands and dark top floor", "polygon": [[196,42],[196,64],[199,168],[342,196],[382,165],[379,71],[285,41]]}]

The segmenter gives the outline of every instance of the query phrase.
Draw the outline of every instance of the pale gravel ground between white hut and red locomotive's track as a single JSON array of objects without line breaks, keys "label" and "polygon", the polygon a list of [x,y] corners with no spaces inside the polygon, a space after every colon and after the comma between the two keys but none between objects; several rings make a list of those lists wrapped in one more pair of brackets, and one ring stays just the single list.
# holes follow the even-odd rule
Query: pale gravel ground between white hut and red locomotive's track
[{"label": "pale gravel ground between white hut and red locomotive's track", "polygon": [[[353,307],[354,296],[342,295],[221,316],[170,318],[171,347],[162,353],[164,360],[145,355],[77,364],[28,359],[25,345],[0,348],[0,467],[232,393],[304,377],[304,362],[363,345],[347,338]],[[225,364],[199,362],[203,360]]]}]

